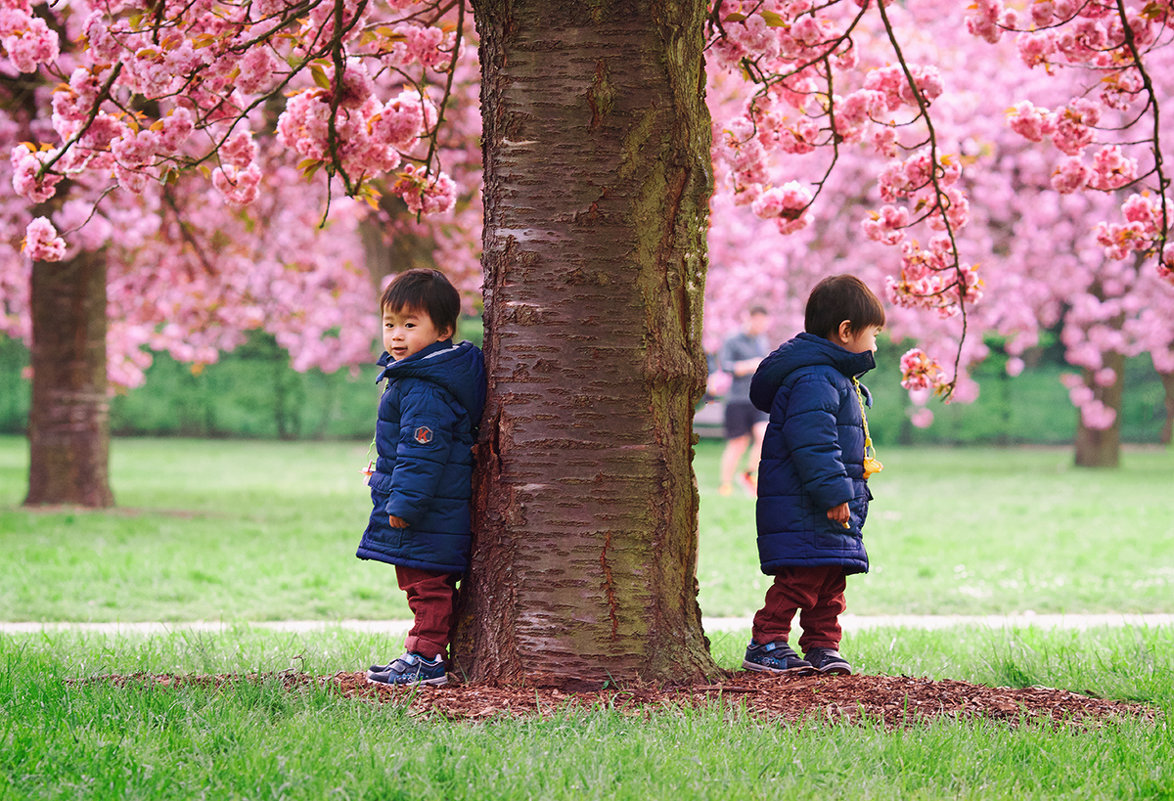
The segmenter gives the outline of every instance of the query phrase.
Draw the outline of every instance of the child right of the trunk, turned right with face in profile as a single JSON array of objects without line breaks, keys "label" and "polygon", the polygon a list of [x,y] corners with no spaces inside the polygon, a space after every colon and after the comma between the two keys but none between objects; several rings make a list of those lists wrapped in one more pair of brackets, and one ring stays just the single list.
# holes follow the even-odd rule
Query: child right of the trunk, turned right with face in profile
[{"label": "child right of the trunk, turned right with face in profile", "polygon": [[[862,529],[872,458],[858,377],[873,366],[884,328],[880,301],[850,275],[821,281],[808,298],[805,331],[763,359],[750,400],[770,412],[758,466],[758,559],[774,575],[754,615],[742,666],[768,673],[850,674],[839,655],[845,577],[865,573]],[[796,611],[805,659],[788,645]]]}]

